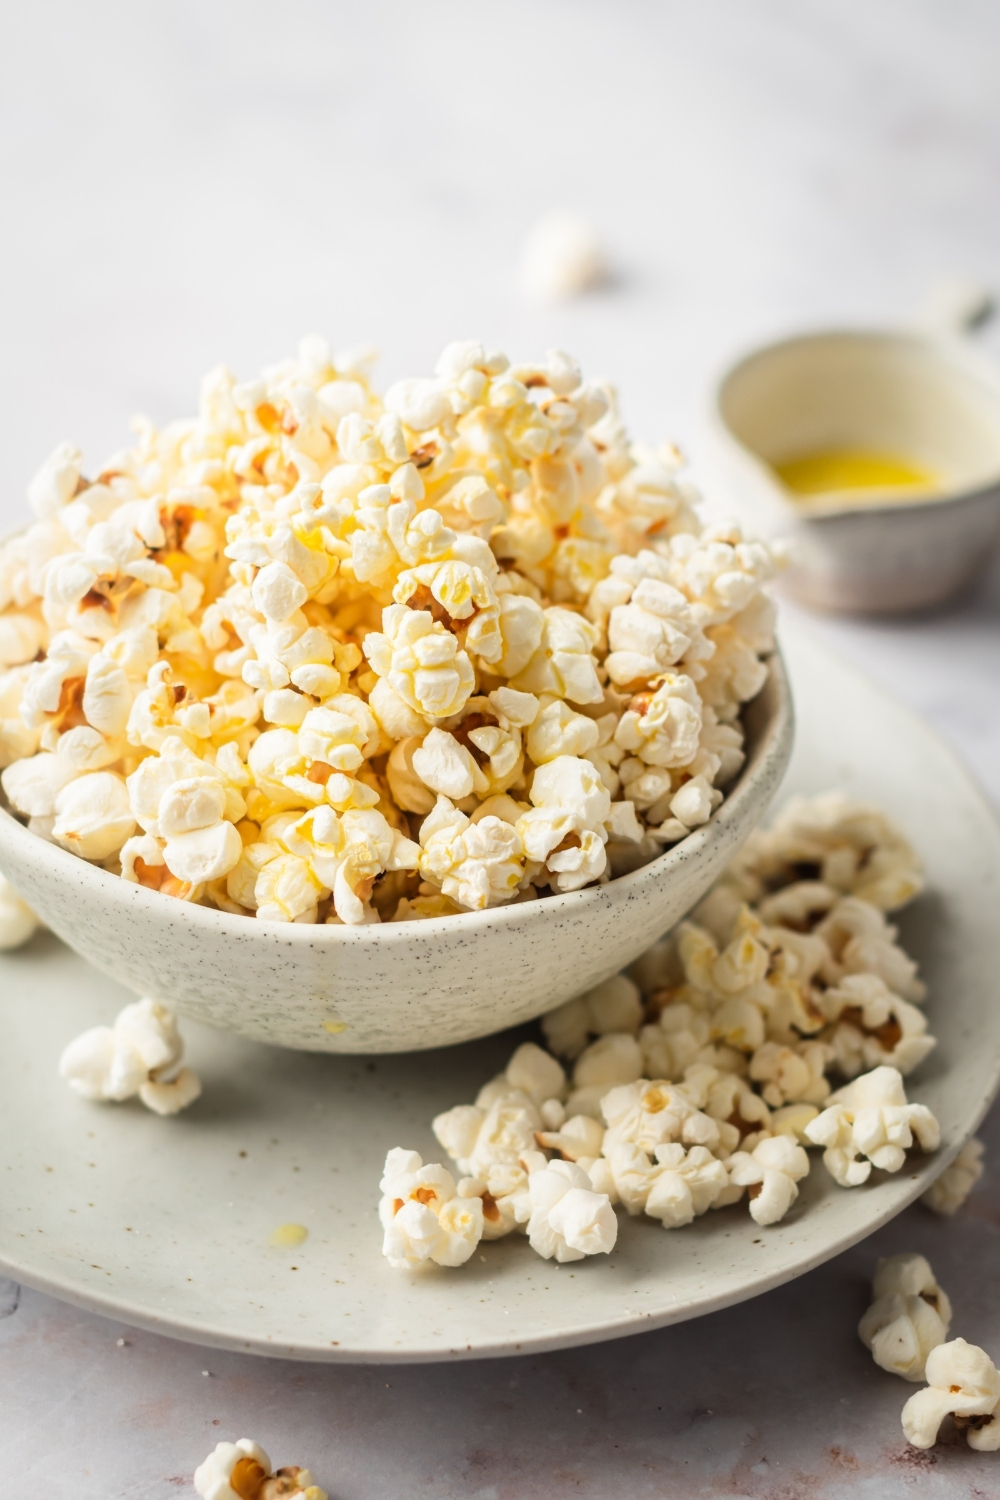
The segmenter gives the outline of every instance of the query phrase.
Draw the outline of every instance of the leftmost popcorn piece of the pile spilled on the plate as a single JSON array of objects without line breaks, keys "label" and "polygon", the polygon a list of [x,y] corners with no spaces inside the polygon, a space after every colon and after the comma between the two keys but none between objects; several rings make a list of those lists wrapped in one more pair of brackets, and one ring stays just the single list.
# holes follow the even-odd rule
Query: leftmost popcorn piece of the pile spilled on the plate
[{"label": "leftmost popcorn piece of the pile spilled on the plate", "polygon": [[412,1270],[429,1260],[463,1266],[472,1256],[483,1238],[483,1203],[459,1196],[444,1167],[424,1166],[418,1152],[397,1146],[385,1158],[379,1188],[382,1254],[390,1266]]}]

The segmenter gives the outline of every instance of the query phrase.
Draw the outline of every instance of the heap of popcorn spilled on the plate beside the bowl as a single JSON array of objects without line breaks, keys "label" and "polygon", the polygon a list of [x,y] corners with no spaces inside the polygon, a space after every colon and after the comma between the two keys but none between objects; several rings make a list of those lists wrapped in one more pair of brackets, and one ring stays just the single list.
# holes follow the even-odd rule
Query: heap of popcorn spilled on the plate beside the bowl
[{"label": "heap of popcorn spilled on the plate beside the bowl", "polygon": [[390,1264],[459,1266],[514,1230],[544,1258],[607,1254],[618,1203],[679,1228],[745,1194],[771,1226],[810,1148],[843,1188],[936,1150],[939,1124],[903,1082],[936,1044],[925,990],[885,916],[921,888],[879,808],[793,800],[693,920],[543,1018],[552,1052],[525,1042],[474,1104],[433,1120],[457,1180],[390,1150]]}]

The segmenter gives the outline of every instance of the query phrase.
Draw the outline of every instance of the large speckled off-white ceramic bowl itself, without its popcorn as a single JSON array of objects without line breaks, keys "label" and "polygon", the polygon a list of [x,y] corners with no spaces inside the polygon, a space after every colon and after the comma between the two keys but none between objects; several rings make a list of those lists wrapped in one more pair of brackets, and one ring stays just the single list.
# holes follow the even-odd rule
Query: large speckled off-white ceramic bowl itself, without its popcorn
[{"label": "large speckled off-white ceramic bowl itself, without its popcorn", "polygon": [[615,974],[705,894],[792,753],[780,656],[744,712],[747,764],[703,828],[607,885],[462,916],[310,927],[186,906],[0,810],[0,868],[97,969],[183,1016],[307,1052],[415,1052],[531,1020]]}]

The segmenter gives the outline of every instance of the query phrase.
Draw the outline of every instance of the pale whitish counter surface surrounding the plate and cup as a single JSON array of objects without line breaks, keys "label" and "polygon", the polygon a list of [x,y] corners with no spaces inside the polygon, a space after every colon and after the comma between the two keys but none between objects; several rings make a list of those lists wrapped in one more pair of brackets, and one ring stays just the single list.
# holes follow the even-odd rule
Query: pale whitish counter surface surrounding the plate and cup
[{"label": "pale whitish counter surface surrounding the plate and cup", "polygon": [[[385,381],[450,338],[570,348],[697,460],[709,376],[747,344],[906,321],[939,276],[1000,286],[999,45],[988,0],[19,6],[0,520],[58,438],[100,459],[135,410],[183,414],[211,363],[250,374],[313,328],[378,344]],[[618,278],[538,309],[516,260],[552,207],[591,218]],[[996,560],[934,616],[786,609],[807,627],[1000,804]],[[876,1240],[697,1323],[459,1368],[207,1354],[0,1282],[0,1497],[166,1500],[244,1434],[337,1500],[997,1494],[1000,1455],[907,1450],[910,1388],[855,1323],[876,1256],[921,1250],[955,1332],[1000,1356],[1000,1168],[955,1221],[918,1206]]]}]

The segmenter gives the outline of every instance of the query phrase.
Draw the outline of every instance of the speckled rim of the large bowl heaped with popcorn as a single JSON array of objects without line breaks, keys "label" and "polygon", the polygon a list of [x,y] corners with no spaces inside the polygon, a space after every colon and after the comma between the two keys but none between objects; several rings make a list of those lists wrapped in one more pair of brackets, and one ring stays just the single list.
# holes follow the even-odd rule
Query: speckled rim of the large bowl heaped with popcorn
[{"label": "speckled rim of the large bowl heaped with popcorn", "polygon": [[[234,912],[223,912],[214,906],[181,902],[184,922],[190,924],[190,932],[216,932],[243,939],[258,938],[271,942],[283,940],[291,945],[315,946],[316,942],[336,948],[340,944],[400,944],[414,939],[442,938],[453,933],[456,938],[472,936],[484,927],[504,927],[513,922],[540,922],[550,918],[574,915],[579,916],[588,908],[607,904],[610,896],[624,892],[625,897],[642,891],[648,885],[657,885],[660,879],[685,861],[697,856],[706,848],[726,837],[729,825],[741,816],[742,807],[753,796],[759,782],[766,777],[768,770],[784,762],[792,753],[795,735],[795,705],[789,672],[781,656],[780,645],[762,658],[768,666],[768,678],[759,693],[748,699],[742,708],[747,710],[759,702],[769,688],[774,693],[774,708],[763,724],[757,744],[747,754],[732,790],[726,795],[718,810],[700,828],[694,828],[685,838],[664,850],[655,860],[616,876],[601,885],[588,885],[579,891],[565,891],[556,896],[540,897],[534,902],[511,902],[504,906],[490,906],[480,912],[457,912],[447,916],[427,916],[412,922],[366,922],[360,927],[325,922],[268,922],[255,916],[238,916]],[[775,790],[777,790],[775,784]],[[58,844],[31,832],[18,818],[0,804],[0,848],[12,843],[22,850],[24,856],[36,864],[48,867],[49,878],[64,882],[73,874],[88,885],[96,894],[121,909],[147,914],[157,920],[169,916],[175,910],[175,898],[162,896],[159,891],[147,890],[130,880],[123,880],[120,874],[112,874],[97,864],[82,860],[79,855],[61,849]],[[174,903],[171,908],[162,903]]]}]

